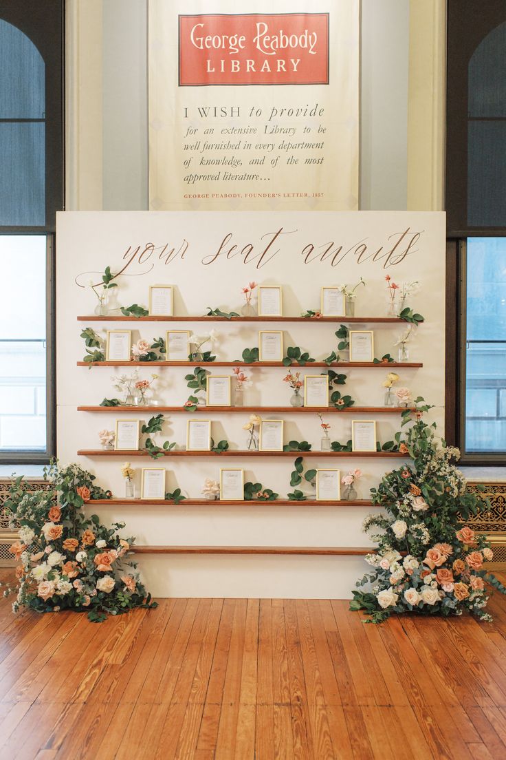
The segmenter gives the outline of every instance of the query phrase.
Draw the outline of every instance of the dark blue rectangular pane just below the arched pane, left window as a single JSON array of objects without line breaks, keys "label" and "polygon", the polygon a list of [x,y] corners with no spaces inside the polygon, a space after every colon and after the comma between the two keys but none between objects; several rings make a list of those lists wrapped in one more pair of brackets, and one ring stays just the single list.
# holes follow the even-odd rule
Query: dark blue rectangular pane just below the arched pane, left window
[{"label": "dark blue rectangular pane just below the arched pane, left window", "polygon": [[0,122],[0,224],[46,223],[45,125]]}]

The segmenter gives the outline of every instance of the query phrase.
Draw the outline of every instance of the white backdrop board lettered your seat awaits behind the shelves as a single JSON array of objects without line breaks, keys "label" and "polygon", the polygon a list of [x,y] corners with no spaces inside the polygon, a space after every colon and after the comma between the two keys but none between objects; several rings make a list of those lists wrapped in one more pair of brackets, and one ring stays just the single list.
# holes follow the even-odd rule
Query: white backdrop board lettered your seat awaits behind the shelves
[{"label": "white backdrop board lettered your seat awaits behind the shelves", "polygon": [[[99,448],[99,430],[112,429],[116,418],[130,413],[99,414],[77,412],[79,405],[96,405],[104,397],[115,397],[112,375],[125,368],[77,367],[85,353],[80,331],[93,327],[99,334],[111,328],[130,328],[133,340],[165,337],[167,329],[198,332],[214,327],[218,343],[213,353],[218,359],[233,361],[245,347],[258,345],[258,331],[284,331],[284,346],[300,346],[321,361],[337,351],[334,336],[339,323],[219,321],[211,325],[184,321],[185,315],[203,315],[206,306],[239,311],[241,289],[251,280],[283,287],[284,315],[300,315],[319,309],[322,285],[357,283],[356,314],[384,316],[387,300],[385,276],[397,283],[420,280],[420,292],[410,306],[422,313],[426,322],[416,330],[410,343],[410,359],[423,362],[423,369],[396,369],[398,385],[422,395],[431,404],[432,419],[442,433],[444,403],[444,293],[445,220],[444,214],[425,212],[64,212],[57,225],[57,353],[58,353],[58,457],[76,461],[77,449]],[[90,315],[96,298],[90,280],[100,280],[106,266],[113,273],[122,270],[110,306],[147,306],[149,285],[174,286],[174,314],[181,322],[78,322],[77,315]],[[85,286],[85,287],[82,287]],[[118,314],[119,312],[113,312]],[[343,320],[345,321],[345,320]],[[374,329],[375,356],[397,356],[394,342],[403,325],[358,325]],[[231,373],[231,368],[209,364],[215,374]],[[300,369],[300,368],[296,368]],[[335,367],[334,367],[335,369]],[[190,391],[184,381],[186,368],[140,368],[141,378],[159,375],[157,395],[166,405],[182,405]],[[300,370],[315,374],[311,366]],[[317,372],[323,370],[318,369]],[[388,366],[380,369],[341,369],[347,384],[341,393],[350,393],[357,406],[381,406],[382,382]],[[250,390],[247,404],[287,406],[291,391],[282,382],[281,368],[247,368]],[[262,413],[260,411],[260,413]],[[178,442],[184,448],[187,414],[166,415],[168,421],[159,439]],[[242,429],[247,414],[209,413],[216,441],[228,439],[231,448],[244,448],[247,433]],[[276,414],[263,414],[276,418]],[[285,441],[307,440],[319,449],[321,437],[316,414],[284,413]],[[147,421],[149,414],[139,413]],[[360,416],[363,419],[370,417]],[[328,414],[331,439],[350,439],[352,414]],[[379,415],[378,438],[390,440],[399,429],[400,416]],[[295,458],[296,454],[294,454]],[[125,457],[126,459],[127,457]],[[104,488],[123,496],[120,466],[122,458],[82,458],[80,464],[98,476]],[[149,458],[132,458],[137,488],[140,468],[149,467]],[[363,478],[360,496],[368,496],[382,473],[397,467],[400,460],[349,458],[307,459],[311,467],[360,467]],[[159,466],[160,462],[156,463]],[[181,487],[187,496],[200,498],[203,481],[219,480],[220,467],[244,467],[245,480],[255,480],[285,497],[289,490],[292,458],[209,457],[165,458],[167,488]],[[127,533],[138,543],[233,546],[364,546],[363,518],[368,508],[311,507],[303,503],[280,506],[259,504],[202,507],[121,505],[94,510],[103,521],[127,521]],[[152,593],[161,596],[253,596],[253,597],[349,597],[355,578],[363,572],[363,560],[353,557],[300,556],[150,556],[140,562]]]}]

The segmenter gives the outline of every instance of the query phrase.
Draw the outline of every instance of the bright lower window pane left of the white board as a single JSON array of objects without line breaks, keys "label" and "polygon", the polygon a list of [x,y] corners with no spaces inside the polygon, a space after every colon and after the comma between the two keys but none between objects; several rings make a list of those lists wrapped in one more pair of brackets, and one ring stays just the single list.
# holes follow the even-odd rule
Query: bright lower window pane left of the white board
[{"label": "bright lower window pane left of the white board", "polygon": [[0,453],[46,451],[46,236],[0,236]]}]

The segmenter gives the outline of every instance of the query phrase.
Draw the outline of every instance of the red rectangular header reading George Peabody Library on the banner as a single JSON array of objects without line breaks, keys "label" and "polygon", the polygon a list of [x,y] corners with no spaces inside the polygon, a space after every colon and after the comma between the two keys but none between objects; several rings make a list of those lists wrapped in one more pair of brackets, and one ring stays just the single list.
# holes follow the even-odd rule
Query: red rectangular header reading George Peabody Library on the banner
[{"label": "red rectangular header reading George Peabody Library on the banner", "polygon": [[328,84],[328,13],[179,17],[179,85]]}]

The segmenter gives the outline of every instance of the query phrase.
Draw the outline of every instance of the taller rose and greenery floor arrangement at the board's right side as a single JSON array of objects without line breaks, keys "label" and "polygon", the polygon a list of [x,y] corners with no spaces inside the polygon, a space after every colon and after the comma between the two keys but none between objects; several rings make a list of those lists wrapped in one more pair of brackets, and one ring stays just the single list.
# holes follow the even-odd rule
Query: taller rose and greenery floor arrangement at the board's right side
[{"label": "taller rose and greenery floor arrangement at the board's right side", "polygon": [[[416,410],[406,435],[411,463],[371,489],[372,502],[385,513],[364,521],[378,550],[366,556],[372,572],[357,582],[360,591],[353,591],[350,602],[351,610],[366,611],[368,622],[394,613],[448,616],[464,610],[489,621],[485,583],[506,594],[506,587],[482,568],[493,556],[489,541],[466,525],[470,515],[488,508],[487,502],[467,490],[464,476],[451,464],[460,451],[439,444],[435,423],[423,422],[422,411],[429,408]],[[403,425],[410,417],[409,411],[403,413]]]}]

